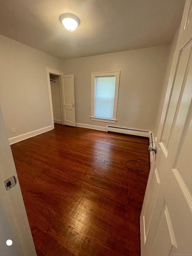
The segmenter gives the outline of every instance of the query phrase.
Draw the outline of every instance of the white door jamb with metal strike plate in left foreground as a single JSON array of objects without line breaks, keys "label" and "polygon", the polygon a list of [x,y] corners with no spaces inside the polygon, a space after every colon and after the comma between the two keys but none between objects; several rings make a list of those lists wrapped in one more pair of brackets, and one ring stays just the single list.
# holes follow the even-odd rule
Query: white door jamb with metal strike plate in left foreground
[{"label": "white door jamb with metal strike plate in left foreground", "polygon": [[[16,185],[4,181],[15,176]],[[35,246],[0,108],[0,255],[35,256]],[[7,183],[6,183],[7,184]],[[12,240],[12,245],[6,244]]]}]

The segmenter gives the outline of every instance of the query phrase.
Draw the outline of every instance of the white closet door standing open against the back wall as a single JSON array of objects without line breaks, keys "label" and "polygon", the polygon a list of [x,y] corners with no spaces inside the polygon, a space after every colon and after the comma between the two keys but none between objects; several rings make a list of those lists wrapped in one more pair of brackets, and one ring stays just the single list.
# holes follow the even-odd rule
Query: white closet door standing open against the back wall
[{"label": "white closet door standing open against the back wall", "polygon": [[62,76],[64,125],[75,126],[74,76]]}]

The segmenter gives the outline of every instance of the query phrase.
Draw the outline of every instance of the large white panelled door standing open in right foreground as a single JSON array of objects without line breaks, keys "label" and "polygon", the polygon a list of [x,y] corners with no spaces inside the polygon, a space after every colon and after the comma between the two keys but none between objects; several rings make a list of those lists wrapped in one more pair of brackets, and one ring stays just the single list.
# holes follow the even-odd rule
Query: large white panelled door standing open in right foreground
[{"label": "large white panelled door standing open in right foreground", "polygon": [[141,212],[141,256],[192,255],[191,11],[187,0]]}]

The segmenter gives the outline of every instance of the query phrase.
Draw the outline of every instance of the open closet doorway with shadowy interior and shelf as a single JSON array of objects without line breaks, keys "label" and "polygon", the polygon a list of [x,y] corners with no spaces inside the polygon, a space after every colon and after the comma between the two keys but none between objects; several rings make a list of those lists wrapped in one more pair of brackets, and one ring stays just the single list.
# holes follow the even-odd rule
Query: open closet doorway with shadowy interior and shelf
[{"label": "open closet doorway with shadowy interior and shelf", "polygon": [[62,124],[62,115],[61,115],[61,103],[62,97],[60,92],[60,83],[59,76],[50,74],[50,85],[51,85],[51,99],[53,107],[53,121],[57,124]]}]

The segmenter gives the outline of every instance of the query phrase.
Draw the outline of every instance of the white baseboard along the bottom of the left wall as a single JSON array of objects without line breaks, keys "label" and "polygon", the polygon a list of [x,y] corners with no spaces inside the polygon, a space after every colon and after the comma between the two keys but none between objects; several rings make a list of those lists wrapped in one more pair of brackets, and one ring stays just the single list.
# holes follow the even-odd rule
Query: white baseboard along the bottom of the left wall
[{"label": "white baseboard along the bottom of the left wall", "polygon": [[41,129],[38,129],[38,130],[35,130],[35,131],[30,131],[30,132],[27,132],[27,133],[9,138],[9,143],[10,143],[10,145],[12,145],[12,144],[17,143],[21,140],[26,140],[26,139],[29,139],[31,137],[34,137],[36,135],[39,135],[41,133],[44,133],[46,131],[51,131],[51,130],[52,130],[52,125],[49,125],[49,126],[46,126],[44,128],[41,128]]}]

